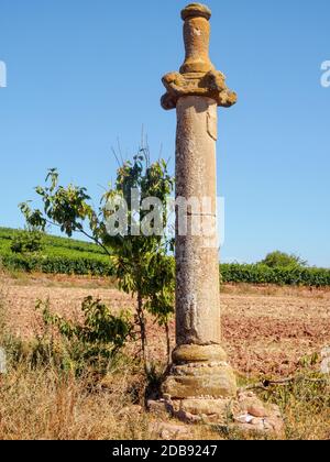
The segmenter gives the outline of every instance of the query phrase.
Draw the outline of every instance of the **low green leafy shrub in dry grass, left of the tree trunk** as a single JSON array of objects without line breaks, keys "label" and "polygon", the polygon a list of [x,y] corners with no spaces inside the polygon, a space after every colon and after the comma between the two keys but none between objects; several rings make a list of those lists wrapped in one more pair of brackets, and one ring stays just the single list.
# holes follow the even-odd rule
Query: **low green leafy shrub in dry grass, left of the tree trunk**
[{"label": "low green leafy shrub in dry grass, left of the tree trunk", "polygon": [[77,375],[94,371],[105,375],[112,360],[129,339],[134,339],[134,324],[127,312],[114,316],[100,300],[87,297],[82,305],[81,322],[73,322],[53,314],[48,301],[38,301],[45,333],[36,339],[31,362],[50,362]]}]

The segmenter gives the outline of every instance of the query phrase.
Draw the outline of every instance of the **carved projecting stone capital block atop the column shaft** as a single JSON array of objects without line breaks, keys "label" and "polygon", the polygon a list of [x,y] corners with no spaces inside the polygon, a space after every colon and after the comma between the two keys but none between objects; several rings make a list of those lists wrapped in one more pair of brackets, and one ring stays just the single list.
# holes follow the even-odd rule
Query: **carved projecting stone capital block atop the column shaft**
[{"label": "carved projecting stone capital block atop the column shaft", "polygon": [[165,110],[175,109],[178,99],[185,96],[208,97],[223,108],[231,107],[238,100],[237,94],[227,87],[226,76],[219,70],[209,70],[207,74],[170,73],[162,81],[167,90],[162,97]]}]

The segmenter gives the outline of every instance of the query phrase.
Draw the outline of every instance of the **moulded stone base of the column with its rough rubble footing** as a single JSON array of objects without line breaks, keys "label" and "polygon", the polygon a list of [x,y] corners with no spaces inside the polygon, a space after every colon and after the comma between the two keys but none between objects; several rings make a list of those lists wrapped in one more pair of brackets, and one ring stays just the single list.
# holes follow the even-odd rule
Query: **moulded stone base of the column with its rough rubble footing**
[{"label": "moulded stone base of the column with its rough rubble footing", "polygon": [[208,424],[243,433],[280,436],[284,421],[277,406],[262,403],[253,393],[239,392],[221,345],[180,345],[162,386],[163,399],[148,402],[153,414],[185,424]]}]

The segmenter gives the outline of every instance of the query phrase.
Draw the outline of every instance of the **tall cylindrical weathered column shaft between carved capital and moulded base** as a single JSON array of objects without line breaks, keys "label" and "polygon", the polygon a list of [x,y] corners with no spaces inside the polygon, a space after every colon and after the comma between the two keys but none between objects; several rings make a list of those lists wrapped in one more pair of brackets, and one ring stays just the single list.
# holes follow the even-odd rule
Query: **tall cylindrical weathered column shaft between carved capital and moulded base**
[{"label": "tall cylindrical weathered column shaft between carved capital and moulded base", "polygon": [[[217,119],[217,105],[208,98],[182,98],[177,106],[176,196],[187,200],[211,198],[216,216],[216,141],[208,134],[207,113]],[[204,211],[198,215],[200,220]],[[220,299],[218,248],[206,248],[213,235],[176,235],[177,344],[220,344]],[[216,222],[216,218],[213,218]],[[207,238],[207,239],[206,239]]]}]

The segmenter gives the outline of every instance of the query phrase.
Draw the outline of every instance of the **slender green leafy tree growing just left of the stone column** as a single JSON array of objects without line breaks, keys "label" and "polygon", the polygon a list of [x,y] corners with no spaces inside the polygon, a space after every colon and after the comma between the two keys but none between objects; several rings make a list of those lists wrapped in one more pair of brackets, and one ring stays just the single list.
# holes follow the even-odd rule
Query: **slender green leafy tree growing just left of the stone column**
[{"label": "slender green leafy tree growing just left of the stone column", "polygon": [[[94,210],[86,188],[58,185],[55,168],[48,172],[45,187],[35,190],[42,199],[42,210],[32,209],[30,202],[20,205],[29,226],[45,230],[47,224],[59,227],[72,237],[80,232],[96,242],[112,260],[120,289],[136,296],[135,321],[139,326],[141,350],[146,372],[150,370],[147,358],[146,312],[165,328],[169,360],[168,321],[174,311],[175,262],[168,251],[173,240],[158,233],[156,222],[162,221],[165,229],[168,221],[167,199],[174,187],[167,164],[160,160],[150,162],[147,148],[141,148],[133,161],[125,162],[117,172],[117,182],[103,195],[100,207]],[[139,210],[133,207],[132,190],[139,194]],[[120,197],[127,204],[127,232],[110,235],[107,222],[116,210],[109,210],[109,201]],[[162,207],[152,208],[152,223],[155,232],[151,235],[136,235],[136,224],[147,218],[151,210],[143,210],[141,202],[146,198],[157,198]],[[134,230],[134,232],[133,232]]]}]

